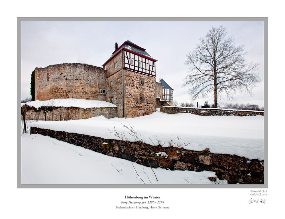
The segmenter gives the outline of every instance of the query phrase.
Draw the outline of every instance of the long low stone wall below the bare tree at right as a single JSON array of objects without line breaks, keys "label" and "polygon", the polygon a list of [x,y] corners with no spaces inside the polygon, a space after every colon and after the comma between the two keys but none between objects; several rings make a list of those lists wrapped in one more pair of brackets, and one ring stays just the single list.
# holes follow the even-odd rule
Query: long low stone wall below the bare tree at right
[{"label": "long low stone wall below the bare tree at right", "polygon": [[263,111],[213,109],[213,108],[192,108],[192,107],[160,107],[160,112],[191,113],[199,116],[263,116]]}]

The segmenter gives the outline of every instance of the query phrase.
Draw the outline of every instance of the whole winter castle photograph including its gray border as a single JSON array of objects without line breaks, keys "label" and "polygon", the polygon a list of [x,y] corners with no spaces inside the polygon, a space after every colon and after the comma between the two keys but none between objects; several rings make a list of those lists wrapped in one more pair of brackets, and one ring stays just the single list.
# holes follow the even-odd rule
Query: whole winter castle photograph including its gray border
[{"label": "whole winter castle photograph including its gray border", "polygon": [[267,188],[267,32],[19,17],[18,188]]}]

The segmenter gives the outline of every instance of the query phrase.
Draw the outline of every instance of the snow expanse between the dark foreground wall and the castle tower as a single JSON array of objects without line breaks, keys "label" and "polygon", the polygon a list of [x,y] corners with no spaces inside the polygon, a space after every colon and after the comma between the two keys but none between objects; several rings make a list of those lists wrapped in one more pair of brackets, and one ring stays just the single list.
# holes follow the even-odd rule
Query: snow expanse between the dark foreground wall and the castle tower
[{"label": "snow expanse between the dark foreground wall and the castle tower", "polygon": [[[131,125],[148,144],[156,139],[164,142],[190,143],[184,148],[204,150],[212,153],[226,153],[244,156],[249,159],[264,159],[264,116],[198,116],[194,114],[165,114],[154,112],[137,118],[111,118],[104,116],[87,120],[38,121],[31,126],[58,131],[74,132],[98,136],[106,139],[118,139],[111,132],[114,126],[118,132],[127,132],[122,123]],[[127,138],[136,139],[129,134]],[[165,144],[168,146],[168,143]]]}]

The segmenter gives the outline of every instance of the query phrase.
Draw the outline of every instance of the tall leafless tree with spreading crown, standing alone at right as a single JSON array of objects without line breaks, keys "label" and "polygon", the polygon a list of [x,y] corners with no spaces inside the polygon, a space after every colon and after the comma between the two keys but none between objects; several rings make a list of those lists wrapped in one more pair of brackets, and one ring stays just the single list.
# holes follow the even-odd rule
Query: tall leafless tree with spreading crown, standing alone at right
[{"label": "tall leafless tree with spreading crown, standing alone at right", "polygon": [[186,64],[190,65],[185,78],[189,94],[193,99],[214,93],[214,105],[218,107],[218,95],[225,93],[233,99],[236,91],[251,90],[260,81],[257,63],[247,63],[244,45],[235,46],[234,37],[227,37],[223,26],[212,27],[200,43],[187,55]]}]

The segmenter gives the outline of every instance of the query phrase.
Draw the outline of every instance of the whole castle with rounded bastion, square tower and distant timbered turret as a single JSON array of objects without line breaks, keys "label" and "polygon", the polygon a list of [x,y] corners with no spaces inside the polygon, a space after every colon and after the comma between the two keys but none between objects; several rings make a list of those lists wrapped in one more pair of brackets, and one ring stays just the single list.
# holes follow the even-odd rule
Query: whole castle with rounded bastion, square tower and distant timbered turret
[{"label": "whole castle with rounded bastion, square tower and distant timbered turret", "polygon": [[103,68],[82,63],[36,67],[32,97],[102,100],[117,106],[118,117],[148,115],[161,105],[173,106],[173,89],[163,79],[156,82],[156,61],[129,40],[119,47],[115,43]]}]

